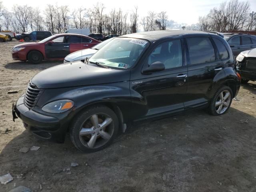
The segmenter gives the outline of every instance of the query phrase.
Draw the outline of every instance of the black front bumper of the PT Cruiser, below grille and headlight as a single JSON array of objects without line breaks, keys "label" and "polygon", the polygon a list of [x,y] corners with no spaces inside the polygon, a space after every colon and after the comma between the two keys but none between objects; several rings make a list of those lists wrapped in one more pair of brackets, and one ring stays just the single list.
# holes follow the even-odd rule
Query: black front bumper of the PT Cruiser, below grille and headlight
[{"label": "black front bumper of the PT Cruiser, below grille and headlight", "polygon": [[29,109],[24,104],[24,96],[21,96],[13,106],[13,118],[15,114],[22,120],[24,127],[36,136],[54,142],[64,142],[68,128],[68,118],[58,119],[52,116],[40,114]]}]

